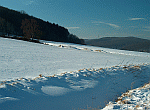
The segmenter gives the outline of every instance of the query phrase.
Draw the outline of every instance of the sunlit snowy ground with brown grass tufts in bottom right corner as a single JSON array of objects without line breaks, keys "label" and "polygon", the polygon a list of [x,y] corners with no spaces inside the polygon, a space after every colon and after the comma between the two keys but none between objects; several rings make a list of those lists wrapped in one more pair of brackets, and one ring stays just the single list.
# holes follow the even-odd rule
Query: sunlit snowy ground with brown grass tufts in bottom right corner
[{"label": "sunlit snowy ground with brown grass tufts in bottom right corner", "polygon": [[122,94],[116,102],[109,102],[103,110],[113,109],[150,110],[150,83]]}]

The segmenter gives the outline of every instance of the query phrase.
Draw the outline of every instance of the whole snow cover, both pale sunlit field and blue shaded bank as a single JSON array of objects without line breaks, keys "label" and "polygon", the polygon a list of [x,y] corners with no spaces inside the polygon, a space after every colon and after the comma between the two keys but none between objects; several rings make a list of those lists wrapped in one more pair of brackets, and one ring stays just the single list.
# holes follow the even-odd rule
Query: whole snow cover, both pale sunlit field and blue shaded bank
[{"label": "whole snow cover, both pale sunlit field and blue shaded bank", "polygon": [[0,38],[0,110],[122,109],[117,97],[150,81],[149,53],[41,42]]}]

